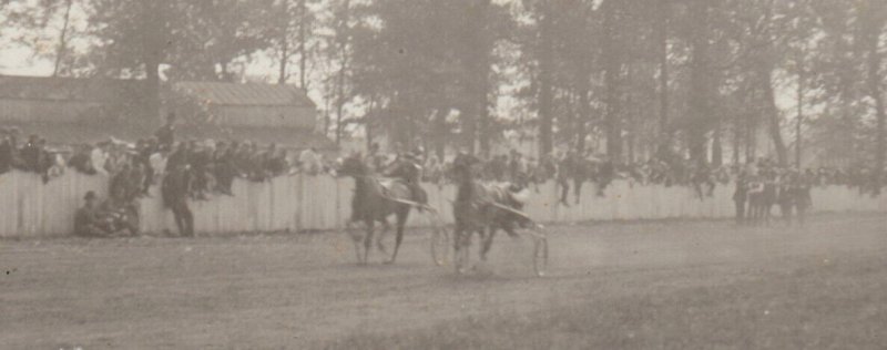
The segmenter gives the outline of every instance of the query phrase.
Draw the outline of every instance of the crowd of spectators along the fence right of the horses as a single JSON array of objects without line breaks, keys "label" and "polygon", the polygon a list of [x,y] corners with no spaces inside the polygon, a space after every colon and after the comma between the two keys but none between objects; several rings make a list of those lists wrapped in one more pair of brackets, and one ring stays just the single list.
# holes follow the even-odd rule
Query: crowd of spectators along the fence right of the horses
[{"label": "crowd of spectators along the fence right of the horses", "polygon": [[[426,182],[441,183],[446,179],[447,166],[447,162],[430,155],[426,158],[422,178]],[[573,189],[577,200],[585,183],[594,184],[597,194],[605,196],[606,187],[615,179],[641,185],[686,186],[693,188],[700,198],[705,198],[711,197],[717,186],[735,183],[740,176],[757,174],[759,168],[772,171],[774,177],[798,174],[813,186],[839,185],[856,188],[860,194],[877,193],[874,186],[875,172],[865,165],[797,169],[781,167],[772,159],[759,158],[740,165],[712,166],[671,154],[657,155],[645,162],[624,163],[614,162],[602,154],[580,155],[572,151],[548,154],[541,159],[511,151],[483,159],[480,177],[485,181],[513,182],[528,186],[553,179],[562,191],[561,202],[568,204],[570,188]],[[887,172],[884,174],[887,175]],[[881,178],[880,184],[887,184],[887,177]]]}]

